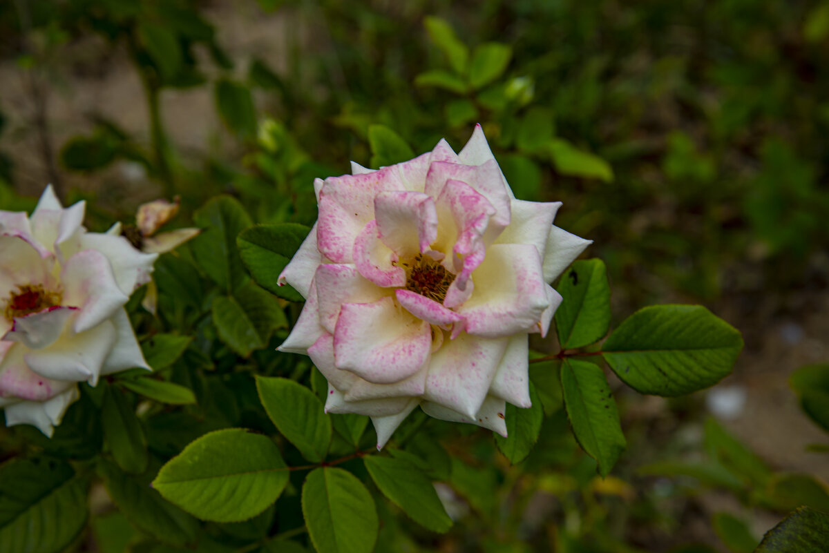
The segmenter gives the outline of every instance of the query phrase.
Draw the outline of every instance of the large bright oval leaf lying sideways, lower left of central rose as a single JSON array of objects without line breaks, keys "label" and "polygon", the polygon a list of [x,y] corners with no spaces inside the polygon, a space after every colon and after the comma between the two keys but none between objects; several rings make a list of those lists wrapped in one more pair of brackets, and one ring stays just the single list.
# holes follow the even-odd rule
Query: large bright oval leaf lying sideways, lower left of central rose
[{"label": "large bright oval leaf lying sideways, lower left of central rose", "polygon": [[238,522],[274,503],[288,483],[288,468],[264,435],[230,428],[187,445],[165,464],[153,488],[196,517]]}]

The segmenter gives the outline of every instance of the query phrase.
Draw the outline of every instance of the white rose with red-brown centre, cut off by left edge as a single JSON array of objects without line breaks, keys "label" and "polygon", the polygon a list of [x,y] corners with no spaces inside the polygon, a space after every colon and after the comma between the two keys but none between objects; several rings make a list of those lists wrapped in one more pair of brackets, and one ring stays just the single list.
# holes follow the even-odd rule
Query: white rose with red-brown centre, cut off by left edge
[{"label": "white rose with red-brown centre, cut off by left edge", "polygon": [[85,203],[63,208],[47,187],[29,218],[0,211],[0,407],[7,426],[52,435],[77,382],[149,368],[124,304],[158,254],[114,228],[88,233]]}]

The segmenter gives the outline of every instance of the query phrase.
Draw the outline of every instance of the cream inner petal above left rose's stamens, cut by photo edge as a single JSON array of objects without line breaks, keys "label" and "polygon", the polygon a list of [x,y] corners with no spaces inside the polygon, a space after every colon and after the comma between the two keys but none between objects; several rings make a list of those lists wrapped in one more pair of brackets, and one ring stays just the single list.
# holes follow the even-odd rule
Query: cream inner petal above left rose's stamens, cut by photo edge
[{"label": "cream inner petal above left rose's stamens, cut by photo edge", "polygon": [[54,258],[44,259],[24,238],[0,236],[0,301],[6,301],[18,286],[41,285],[46,291],[55,291],[53,265]]}]

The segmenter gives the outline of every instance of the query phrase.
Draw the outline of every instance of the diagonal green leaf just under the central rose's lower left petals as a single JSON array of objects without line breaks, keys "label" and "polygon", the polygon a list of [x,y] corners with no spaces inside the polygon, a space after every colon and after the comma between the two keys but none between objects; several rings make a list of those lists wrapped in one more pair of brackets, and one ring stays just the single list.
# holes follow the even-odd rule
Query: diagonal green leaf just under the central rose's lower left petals
[{"label": "diagonal green leaf just under the central rose's lower left petals", "polygon": [[331,443],[331,419],[311,390],[288,378],[256,377],[259,400],[271,421],[305,459],[320,463]]}]

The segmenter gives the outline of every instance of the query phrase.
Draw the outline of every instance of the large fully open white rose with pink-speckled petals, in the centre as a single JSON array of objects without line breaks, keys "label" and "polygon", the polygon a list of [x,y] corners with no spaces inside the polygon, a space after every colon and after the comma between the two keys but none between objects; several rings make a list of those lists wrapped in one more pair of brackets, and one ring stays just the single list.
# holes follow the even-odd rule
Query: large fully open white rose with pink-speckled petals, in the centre
[{"label": "large fully open white rose with pink-speckled petals, in the centre", "polygon": [[279,349],[311,357],[327,412],[371,416],[378,448],[416,406],[506,435],[550,282],[590,241],[553,225],[560,202],[515,198],[480,126],[459,154],[441,140],[352,173],[314,183],[318,221],[279,276],[306,303]]}]

